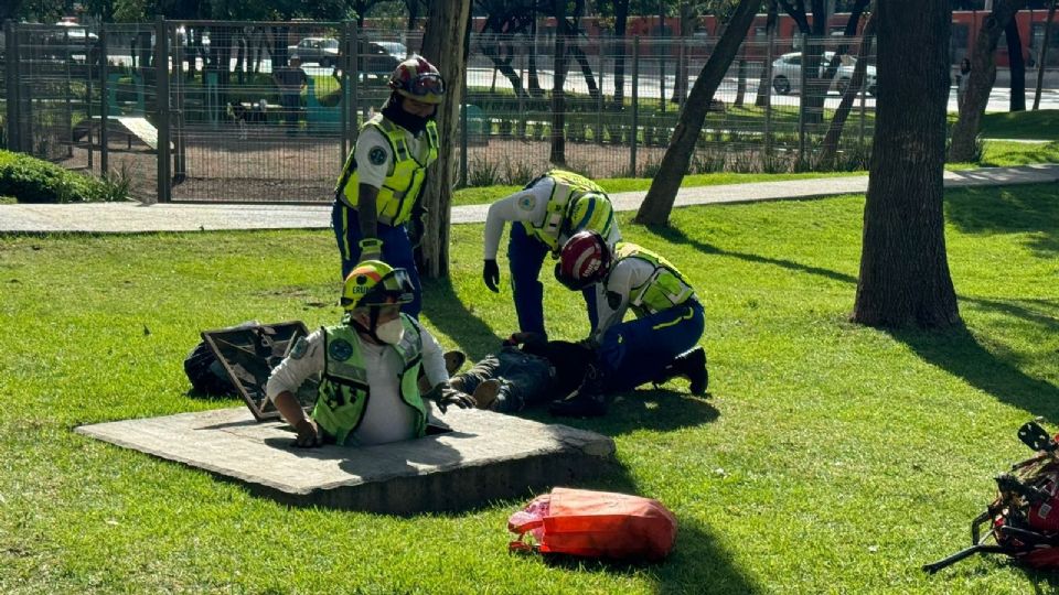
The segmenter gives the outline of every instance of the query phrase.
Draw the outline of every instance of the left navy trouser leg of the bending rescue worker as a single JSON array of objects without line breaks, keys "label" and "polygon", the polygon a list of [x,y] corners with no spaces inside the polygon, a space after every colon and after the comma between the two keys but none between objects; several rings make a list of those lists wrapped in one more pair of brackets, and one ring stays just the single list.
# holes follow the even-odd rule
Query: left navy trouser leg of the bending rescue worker
[{"label": "left navy trouser leg of the bending rescue worker", "polygon": [[507,241],[507,266],[511,271],[511,292],[518,315],[518,329],[545,334],[544,285],[538,279],[548,248],[526,234],[522,224],[511,225]]}]

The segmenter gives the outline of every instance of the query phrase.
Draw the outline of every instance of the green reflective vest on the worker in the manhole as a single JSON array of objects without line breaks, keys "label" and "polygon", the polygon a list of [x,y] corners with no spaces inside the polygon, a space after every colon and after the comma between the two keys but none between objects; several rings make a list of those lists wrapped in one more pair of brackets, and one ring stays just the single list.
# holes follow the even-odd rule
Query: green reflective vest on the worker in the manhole
[{"label": "green reflective vest on the worker in the manhole", "polygon": [[[400,315],[405,335],[394,345],[404,367],[400,371],[400,399],[415,411],[416,436],[427,430],[427,408],[419,394],[419,367],[422,360],[422,337],[419,328],[406,314]],[[345,345],[335,348],[335,344]],[[346,347],[347,346],[347,347]],[[346,355],[347,354],[347,355]],[[323,328],[324,371],[317,393],[312,419],[336,444],[344,444],[364,420],[364,410],[372,390],[361,354],[361,338],[346,324]]]}]

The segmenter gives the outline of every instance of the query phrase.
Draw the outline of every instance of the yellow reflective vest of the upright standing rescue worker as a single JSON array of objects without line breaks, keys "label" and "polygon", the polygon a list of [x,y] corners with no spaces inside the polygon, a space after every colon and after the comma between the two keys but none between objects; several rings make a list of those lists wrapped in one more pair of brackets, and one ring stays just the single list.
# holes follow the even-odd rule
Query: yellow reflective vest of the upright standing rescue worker
[{"label": "yellow reflective vest of the upright standing rescue worker", "polygon": [[[378,190],[378,196],[375,198],[378,223],[400,225],[411,216],[411,207],[415,206],[416,197],[419,196],[419,188],[427,175],[427,166],[438,159],[438,125],[434,120],[427,122],[426,155],[411,154],[411,149],[408,147],[408,132],[383,118],[382,113],[376,113],[365,122],[361,127],[361,132],[370,126],[382,132],[389,142],[389,150],[394,155],[386,178],[383,180],[383,187]],[[354,152],[355,149],[350,151],[350,156],[345,160],[339,177],[339,184],[344,186],[335,194],[346,206],[355,209],[359,203],[360,176],[356,173],[356,160],[353,159]]]}]

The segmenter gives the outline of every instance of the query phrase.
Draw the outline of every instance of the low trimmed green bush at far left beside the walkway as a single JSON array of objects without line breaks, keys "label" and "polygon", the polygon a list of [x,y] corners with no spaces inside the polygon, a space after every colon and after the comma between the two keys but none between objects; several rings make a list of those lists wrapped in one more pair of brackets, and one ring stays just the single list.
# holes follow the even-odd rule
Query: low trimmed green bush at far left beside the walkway
[{"label": "low trimmed green bush at far left beside the walkway", "polygon": [[103,182],[30,155],[0,151],[0,196],[13,196],[20,203],[121,201],[128,196],[128,186],[118,180]]}]

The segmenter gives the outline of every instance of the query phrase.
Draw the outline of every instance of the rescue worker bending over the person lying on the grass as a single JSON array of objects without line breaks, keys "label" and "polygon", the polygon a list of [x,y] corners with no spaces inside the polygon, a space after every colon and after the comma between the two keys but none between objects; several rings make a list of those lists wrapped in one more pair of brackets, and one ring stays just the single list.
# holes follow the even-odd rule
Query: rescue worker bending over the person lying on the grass
[{"label": "rescue worker bending over the person lying on the grass", "polygon": [[[496,251],[506,221],[512,221],[507,266],[518,329],[545,335],[544,285],[538,280],[545,255],[550,252],[552,258],[557,258],[566,240],[585,229],[599,231],[613,246],[621,239],[613,206],[607,192],[595,182],[563,170],[550,170],[522,191],[490,205],[482,279],[494,293],[500,291]],[[592,328],[597,324],[598,301],[593,291],[586,288],[582,292]]]}]

